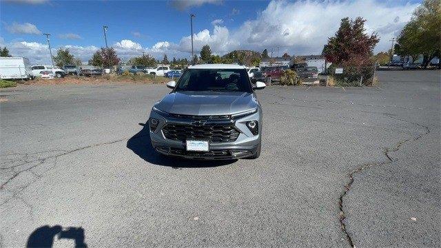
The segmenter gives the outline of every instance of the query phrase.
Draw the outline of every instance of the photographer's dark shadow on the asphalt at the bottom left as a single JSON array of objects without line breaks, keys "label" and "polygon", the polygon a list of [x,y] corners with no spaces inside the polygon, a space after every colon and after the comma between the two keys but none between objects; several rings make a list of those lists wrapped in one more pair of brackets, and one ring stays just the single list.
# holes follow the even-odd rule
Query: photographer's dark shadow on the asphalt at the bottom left
[{"label": "photographer's dark shadow on the asphalt at the bottom left", "polygon": [[35,229],[30,234],[26,247],[52,247],[56,236],[57,240],[74,240],[75,247],[88,247],[84,242],[84,229],[82,227],[63,228],[60,225],[54,225],[53,227],[45,225]]}]

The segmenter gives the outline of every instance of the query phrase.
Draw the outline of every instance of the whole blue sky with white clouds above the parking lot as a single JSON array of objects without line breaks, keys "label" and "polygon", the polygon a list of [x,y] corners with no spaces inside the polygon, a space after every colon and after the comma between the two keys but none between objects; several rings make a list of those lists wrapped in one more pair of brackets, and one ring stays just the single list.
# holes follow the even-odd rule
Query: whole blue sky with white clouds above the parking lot
[{"label": "whole blue sky with white clouds above the parking lot", "polygon": [[[46,1],[0,2],[0,45],[14,56],[47,62],[44,32],[51,45],[69,48],[87,61],[108,43],[125,59],[147,52],[156,57],[189,56],[189,14],[195,13],[195,50],[205,43],[216,54],[234,49],[279,48],[280,53],[320,53],[342,17],[367,19],[378,32],[376,50],[409,21],[420,1]],[[280,54],[281,55],[281,54]]]}]

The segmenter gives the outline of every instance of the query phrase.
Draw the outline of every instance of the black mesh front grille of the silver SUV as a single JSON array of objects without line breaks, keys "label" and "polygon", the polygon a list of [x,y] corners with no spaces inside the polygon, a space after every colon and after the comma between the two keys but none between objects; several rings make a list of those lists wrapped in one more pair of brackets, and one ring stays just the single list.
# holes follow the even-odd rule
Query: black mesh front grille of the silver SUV
[{"label": "black mesh front grille of the silver SUV", "polygon": [[234,125],[188,125],[170,123],[163,127],[165,138],[175,141],[208,140],[211,143],[234,142],[240,132]]}]

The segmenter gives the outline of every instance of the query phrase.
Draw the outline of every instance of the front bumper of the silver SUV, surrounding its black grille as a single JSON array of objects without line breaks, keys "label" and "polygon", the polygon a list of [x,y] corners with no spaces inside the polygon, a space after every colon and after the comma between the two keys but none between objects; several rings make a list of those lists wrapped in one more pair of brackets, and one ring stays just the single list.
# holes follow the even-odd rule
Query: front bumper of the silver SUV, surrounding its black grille
[{"label": "front bumper of the silver SUV, surrounding its black grille", "polygon": [[[238,138],[232,142],[209,142],[209,152],[187,151],[185,141],[176,141],[174,139],[165,138],[163,127],[167,124],[181,124],[184,120],[177,120],[169,116],[162,116],[152,111],[150,118],[156,118],[159,121],[158,127],[154,132],[150,131],[150,140],[155,151],[167,155],[181,158],[201,159],[201,160],[229,160],[236,158],[246,158],[256,154],[258,145],[260,145],[260,134],[262,133],[262,112],[260,107],[258,112],[236,118],[234,126],[240,131]],[[247,121],[258,121],[258,134],[253,135],[246,126]],[[148,123],[147,123],[148,125]]]}]

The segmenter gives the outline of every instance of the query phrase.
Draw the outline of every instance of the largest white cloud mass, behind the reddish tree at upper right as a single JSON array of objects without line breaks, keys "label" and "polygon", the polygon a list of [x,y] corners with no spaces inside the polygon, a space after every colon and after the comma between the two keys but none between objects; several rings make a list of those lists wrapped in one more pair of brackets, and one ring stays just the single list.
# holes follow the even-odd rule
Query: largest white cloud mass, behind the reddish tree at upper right
[{"label": "largest white cloud mass, behind the reddish tree at upper right", "polygon": [[241,48],[259,51],[280,47],[291,54],[320,54],[327,38],[338,30],[340,19],[360,16],[367,19],[366,32],[378,32],[381,38],[376,51],[387,50],[389,39],[409,21],[416,6],[375,1],[271,1],[256,19],[234,30],[230,39],[241,41]]}]

